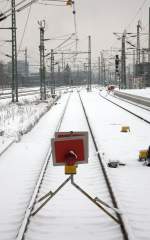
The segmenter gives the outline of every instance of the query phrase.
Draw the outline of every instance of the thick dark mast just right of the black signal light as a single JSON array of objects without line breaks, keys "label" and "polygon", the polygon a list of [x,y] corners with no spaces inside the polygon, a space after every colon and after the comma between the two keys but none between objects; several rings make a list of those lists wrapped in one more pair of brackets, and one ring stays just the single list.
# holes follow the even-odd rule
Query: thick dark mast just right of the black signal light
[{"label": "thick dark mast just right of the black signal light", "polygon": [[126,50],[125,50],[125,41],[126,41],[126,31],[122,35],[122,47],[121,47],[121,88],[126,88]]}]

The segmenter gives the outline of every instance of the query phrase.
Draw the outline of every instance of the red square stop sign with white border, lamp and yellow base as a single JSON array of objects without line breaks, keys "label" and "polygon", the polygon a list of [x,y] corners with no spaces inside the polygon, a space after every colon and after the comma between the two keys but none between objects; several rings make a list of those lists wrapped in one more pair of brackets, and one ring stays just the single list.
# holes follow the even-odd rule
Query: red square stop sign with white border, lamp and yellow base
[{"label": "red square stop sign with white border, lamp and yellow base", "polygon": [[78,164],[88,163],[87,132],[56,132],[51,143],[53,165],[64,165],[65,174],[76,174]]}]

